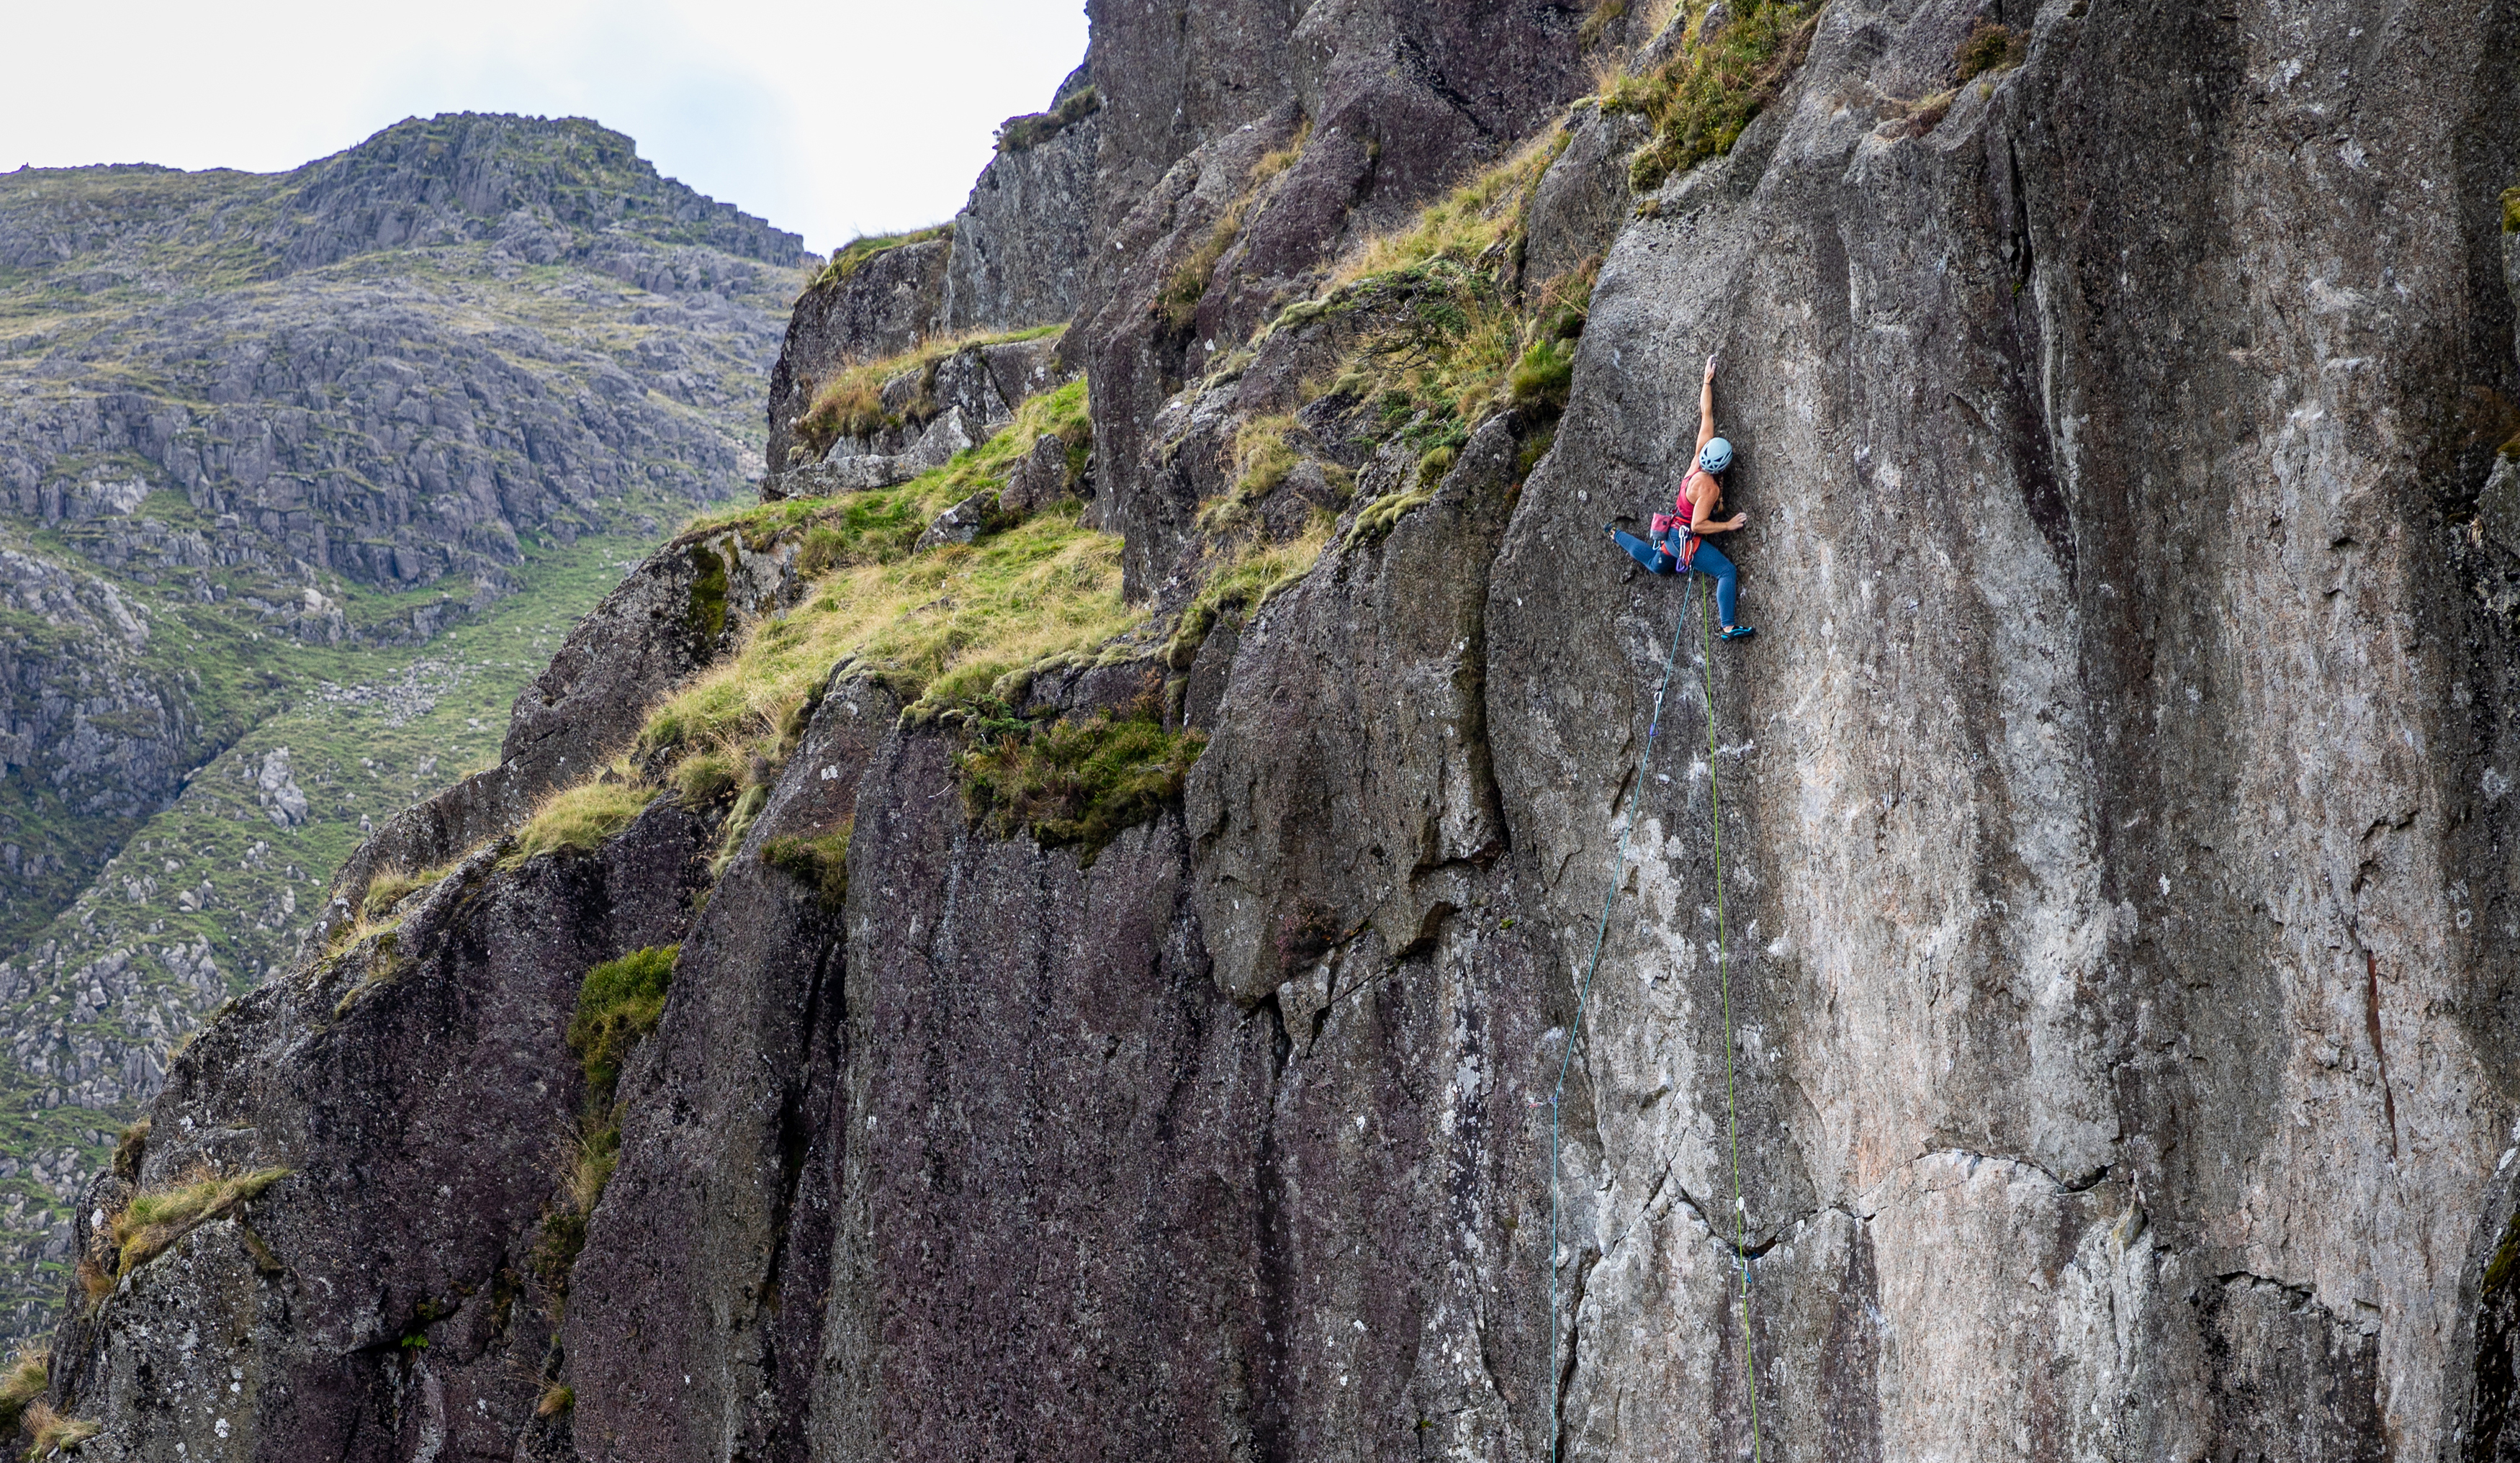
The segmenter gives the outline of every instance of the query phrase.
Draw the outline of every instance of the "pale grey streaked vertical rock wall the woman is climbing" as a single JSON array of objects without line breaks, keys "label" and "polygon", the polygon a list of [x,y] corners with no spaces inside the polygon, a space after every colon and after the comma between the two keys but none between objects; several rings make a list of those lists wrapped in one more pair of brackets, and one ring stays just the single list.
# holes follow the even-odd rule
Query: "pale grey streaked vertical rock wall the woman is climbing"
[{"label": "pale grey streaked vertical rock wall the woman is climbing", "polygon": [[1787,1450],[1842,1387],[1895,1458],[2449,1455],[2512,1121],[2470,710],[2510,624],[2442,524],[2482,473],[2447,383],[2512,370],[2507,18],[2046,5],[1903,136],[1875,98],[1963,23],[1832,5],[1794,98],[1620,237],[1497,564],[1507,821],[1572,932],[1678,599],[1595,524],[1671,491],[1724,355],[1761,637],[1716,647],[1711,733],[1666,728],[1585,1025],[1572,1445],[1744,1420],[1711,773]]}]

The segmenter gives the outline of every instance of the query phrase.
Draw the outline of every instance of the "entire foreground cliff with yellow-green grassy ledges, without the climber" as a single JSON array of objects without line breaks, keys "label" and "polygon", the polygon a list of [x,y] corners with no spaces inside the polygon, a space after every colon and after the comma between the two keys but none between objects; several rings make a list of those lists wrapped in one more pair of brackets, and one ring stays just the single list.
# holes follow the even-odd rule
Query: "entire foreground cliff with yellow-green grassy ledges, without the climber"
[{"label": "entire foreground cliff with yellow-green grassy ledges, without the climber", "polygon": [[[33,1445],[2520,1450],[2520,18],[1091,18],[1053,360],[816,285]],[[1746,645],[1600,534],[1709,355]]]}]

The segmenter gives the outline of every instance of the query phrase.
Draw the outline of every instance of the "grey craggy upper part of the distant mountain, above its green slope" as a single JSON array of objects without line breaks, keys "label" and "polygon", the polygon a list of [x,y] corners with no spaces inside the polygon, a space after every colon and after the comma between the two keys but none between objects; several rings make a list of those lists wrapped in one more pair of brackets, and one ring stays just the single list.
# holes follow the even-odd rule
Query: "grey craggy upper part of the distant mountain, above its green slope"
[{"label": "grey craggy upper part of the distant mountain, above its green slope", "polygon": [[[272,176],[5,174],[0,539],[88,602],[121,582],[418,645],[512,592],[529,546],[746,478],[728,423],[801,259],[575,118],[413,118]],[[224,687],[144,652],[149,617],[20,627],[0,949],[239,730]]]}]

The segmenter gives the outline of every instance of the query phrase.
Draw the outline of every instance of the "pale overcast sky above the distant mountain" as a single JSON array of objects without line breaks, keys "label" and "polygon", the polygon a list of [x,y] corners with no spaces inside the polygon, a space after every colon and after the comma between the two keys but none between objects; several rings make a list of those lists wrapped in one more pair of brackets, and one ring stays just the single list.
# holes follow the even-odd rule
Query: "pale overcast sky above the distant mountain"
[{"label": "pale overcast sky above the distant mountain", "polygon": [[592,116],[804,234],[935,224],[1000,118],[1086,53],[1084,0],[134,0],[5,5],[0,169],[282,171],[406,116]]}]

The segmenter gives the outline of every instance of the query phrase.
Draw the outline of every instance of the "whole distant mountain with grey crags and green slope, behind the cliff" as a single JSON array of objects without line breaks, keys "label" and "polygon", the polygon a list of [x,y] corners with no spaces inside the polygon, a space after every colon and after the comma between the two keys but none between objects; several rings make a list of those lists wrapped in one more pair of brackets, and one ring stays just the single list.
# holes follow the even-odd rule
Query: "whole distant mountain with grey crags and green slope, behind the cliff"
[{"label": "whole distant mountain with grey crags and green slope, behind the cliff", "polygon": [[169,1048],[756,471],[801,262],[582,121],[0,176],[8,1330]]}]

